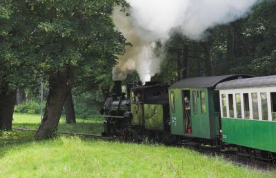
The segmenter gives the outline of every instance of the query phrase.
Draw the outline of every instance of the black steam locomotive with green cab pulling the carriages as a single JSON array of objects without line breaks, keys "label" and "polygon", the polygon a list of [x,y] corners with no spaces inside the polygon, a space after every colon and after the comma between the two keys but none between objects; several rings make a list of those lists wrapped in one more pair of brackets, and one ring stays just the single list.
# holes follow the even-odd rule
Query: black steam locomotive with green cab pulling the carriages
[{"label": "black steam locomotive with green cab pulling the carriages", "polygon": [[[145,85],[135,82],[128,83],[126,90],[127,93],[122,92],[121,81],[115,81],[114,92],[100,110],[105,117],[102,135],[124,139],[168,138],[168,86],[152,81]],[[138,94],[141,103],[137,103]]]}]

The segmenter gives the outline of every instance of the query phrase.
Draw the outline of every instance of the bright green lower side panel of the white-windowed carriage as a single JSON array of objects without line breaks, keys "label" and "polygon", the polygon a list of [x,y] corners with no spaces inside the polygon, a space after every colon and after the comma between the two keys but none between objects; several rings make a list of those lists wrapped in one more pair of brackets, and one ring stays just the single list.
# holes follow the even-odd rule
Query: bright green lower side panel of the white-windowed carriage
[{"label": "bright green lower side panel of the white-windowed carriage", "polygon": [[225,143],[276,152],[276,121],[222,117],[221,124]]}]

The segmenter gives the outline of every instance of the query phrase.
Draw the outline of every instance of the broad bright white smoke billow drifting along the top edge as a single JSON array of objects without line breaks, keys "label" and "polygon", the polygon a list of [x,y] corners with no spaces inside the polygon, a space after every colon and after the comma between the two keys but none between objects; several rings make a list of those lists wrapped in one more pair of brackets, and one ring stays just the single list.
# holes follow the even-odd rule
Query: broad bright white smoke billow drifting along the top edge
[{"label": "broad bright white smoke billow drifting along the top edge", "polygon": [[201,39],[208,28],[248,14],[258,0],[126,0],[140,28],[168,39],[177,30],[190,39]]}]

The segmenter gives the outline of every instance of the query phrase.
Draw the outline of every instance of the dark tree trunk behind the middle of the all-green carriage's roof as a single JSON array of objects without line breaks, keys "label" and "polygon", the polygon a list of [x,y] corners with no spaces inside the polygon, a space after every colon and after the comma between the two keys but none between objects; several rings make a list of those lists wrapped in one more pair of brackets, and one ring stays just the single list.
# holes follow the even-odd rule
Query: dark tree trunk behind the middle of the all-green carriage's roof
[{"label": "dark tree trunk behind the middle of the all-green carriage's roof", "polygon": [[201,46],[203,46],[204,48],[205,74],[206,76],[213,76],[213,65],[212,65],[212,57],[211,57],[211,47],[212,47],[211,39],[208,39],[208,41],[202,42]]}]

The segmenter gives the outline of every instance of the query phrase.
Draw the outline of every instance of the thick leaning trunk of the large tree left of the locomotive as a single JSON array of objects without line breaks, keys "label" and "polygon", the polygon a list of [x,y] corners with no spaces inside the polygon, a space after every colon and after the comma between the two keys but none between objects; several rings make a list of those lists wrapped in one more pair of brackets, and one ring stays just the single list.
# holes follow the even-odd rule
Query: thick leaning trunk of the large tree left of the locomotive
[{"label": "thick leaning trunk of the large tree left of the locomotive", "polygon": [[46,108],[39,130],[37,131],[37,139],[48,139],[54,136],[67,93],[66,72],[55,72],[49,79]]}]

